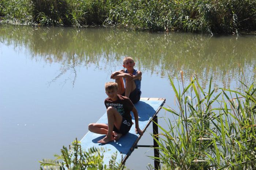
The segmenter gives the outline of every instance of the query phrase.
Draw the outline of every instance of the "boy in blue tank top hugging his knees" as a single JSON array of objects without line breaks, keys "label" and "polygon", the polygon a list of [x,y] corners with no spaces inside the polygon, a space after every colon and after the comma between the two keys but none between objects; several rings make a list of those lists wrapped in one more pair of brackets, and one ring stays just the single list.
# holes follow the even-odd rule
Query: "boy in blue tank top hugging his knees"
[{"label": "boy in blue tank top hugging his knees", "polygon": [[118,94],[128,97],[132,103],[140,100],[140,82],[142,72],[134,69],[135,62],[131,57],[123,59],[123,67],[126,70],[115,71],[111,75],[111,79],[115,79],[118,84]]}]

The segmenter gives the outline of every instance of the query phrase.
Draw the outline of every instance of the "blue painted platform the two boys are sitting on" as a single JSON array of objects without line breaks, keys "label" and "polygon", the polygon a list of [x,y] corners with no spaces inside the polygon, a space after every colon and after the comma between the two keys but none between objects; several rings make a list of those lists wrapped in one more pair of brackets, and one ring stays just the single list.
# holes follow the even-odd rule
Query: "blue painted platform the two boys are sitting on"
[{"label": "blue painted platform the two boys are sitting on", "polygon": [[[146,131],[146,128],[150,122],[152,122],[152,118],[157,115],[164,103],[165,99],[162,98],[141,98],[140,101],[135,104],[135,107],[138,110],[139,127],[141,130]],[[131,113],[131,115],[134,122],[133,114]],[[108,123],[107,114],[105,113],[97,123]],[[84,135],[80,142],[82,149],[85,150],[88,150],[90,147],[103,147],[106,150],[104,153],[103,162],[104,164],[108,165],[111,156],[116,153],[116,151],[116,161],[125,163],[141,136],[135,133],[135,124],[133,124],[129,133],[121,137],[118,141],[112,141],[105,145],[97,143],[104,137],[105,135],[95,134],[89,131],[86,135]]]}]

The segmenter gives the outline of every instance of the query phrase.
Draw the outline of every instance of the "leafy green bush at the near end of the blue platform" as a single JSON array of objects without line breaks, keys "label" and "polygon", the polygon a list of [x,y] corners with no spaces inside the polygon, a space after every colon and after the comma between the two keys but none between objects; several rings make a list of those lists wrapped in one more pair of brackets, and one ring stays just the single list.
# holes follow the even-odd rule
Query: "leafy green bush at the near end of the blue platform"
[{"label": "leafy green bush at the near end of the blue platform", "polygon": [[105,150],[90,148],[88,151],[84,151],[81,148],[80,142],[77,139],[72,142],[72,146],[63,146],[61,149],[61,155],[54,155],[56,159],[43,159],[39,161],[41,163],[40,169],[47,170],[87,170],[87,169],[98,169],[98,170],[118,170],[123,169],[123,165],[116,162],[116,155],[112,156],[109,161],[109,165],[103,164],[103,153]]}]

